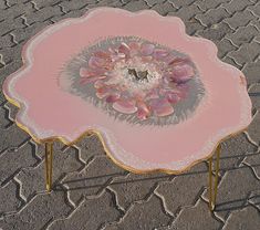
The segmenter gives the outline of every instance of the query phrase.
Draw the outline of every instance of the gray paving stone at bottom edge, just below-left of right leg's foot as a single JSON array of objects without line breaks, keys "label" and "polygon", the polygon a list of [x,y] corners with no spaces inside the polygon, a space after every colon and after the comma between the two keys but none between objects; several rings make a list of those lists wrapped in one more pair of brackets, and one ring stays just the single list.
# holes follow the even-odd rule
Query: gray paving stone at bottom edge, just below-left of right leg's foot
[{"label": "gray paving stone at bottom edge, just below-left of right leg's foot", "polygon": [[217,230],[221,226],[221,222],[212,218],[208,211],[208,205],[201,199],[197,201],[194,207],[187,207],[181,210],[178,217],[175,219],[169,230],[178,229],[212,229]]}]

